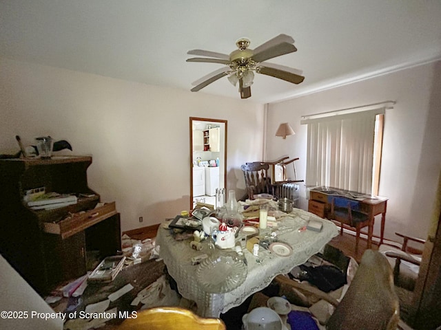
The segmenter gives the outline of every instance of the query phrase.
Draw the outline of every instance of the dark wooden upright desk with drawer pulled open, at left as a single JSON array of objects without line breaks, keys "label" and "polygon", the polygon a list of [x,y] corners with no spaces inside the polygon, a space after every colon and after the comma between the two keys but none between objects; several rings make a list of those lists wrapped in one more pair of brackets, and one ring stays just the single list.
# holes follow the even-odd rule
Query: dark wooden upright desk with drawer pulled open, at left
[{"label": "dark wooden upright desk with drawer pulled open, at left", "polygon": [[[103,259],[121,250],[119,213],[115,203],[95,208],[101,200],[88,187],[90,164],[92,157],[0,160],[0,253],[41,295],[84,275],[88,252]],[[78,201],[31,210],[23,196],[40,187],[75,194]]]}]

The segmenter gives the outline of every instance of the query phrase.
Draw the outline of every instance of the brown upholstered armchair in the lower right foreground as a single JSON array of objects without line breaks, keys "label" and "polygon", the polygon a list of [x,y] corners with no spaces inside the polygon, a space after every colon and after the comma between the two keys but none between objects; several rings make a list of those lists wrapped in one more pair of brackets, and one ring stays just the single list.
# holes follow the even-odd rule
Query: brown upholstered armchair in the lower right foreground
[{"label": "brown upholstered armchair in the lower right foreground", "polygon": [[[334,305],[334,313],[322,322],[329,330],[395,330],[400,322],[392,269],[387,259],[378,251],[365,251],[356,275],[340,303],[316,287],[298,283],[287,276],[278,275],[275,282],[280,288],[279,296],[289,296],[289,292],[294,290],[295,293],[300,291],[316,295]],[[311,309],[312,307],[309,308]]]}]

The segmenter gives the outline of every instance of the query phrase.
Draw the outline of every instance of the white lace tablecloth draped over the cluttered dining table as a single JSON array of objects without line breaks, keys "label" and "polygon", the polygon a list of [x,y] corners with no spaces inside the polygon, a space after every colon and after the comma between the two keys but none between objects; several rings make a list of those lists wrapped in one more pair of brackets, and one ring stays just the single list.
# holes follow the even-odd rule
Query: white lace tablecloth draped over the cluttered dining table
[{"label": "white lace tablecloth draped over the cluttered dining table", "polygon": [[[307,224],[309,219],[319,219],[323,223],[321,232],[298,230]],[[309,257],[322,251],[326,243],[338,234],[336,225],[331,221],[317,217],[310,212],[294,209],[287,217],[278,221],[277,238],[291,245],[293,253],[290,256],[277,256],[269,250],[260,248],[259,256],[253,256],[244,249],[247,259],[247,278],[236,289],[225,294],[209,294],[203,290],[196,278],[198,265],[192,265],[193,256],[209,254],[207,240],[203,241],[203,250],[190,248],[189,240],[176,241],[170,230],[158,228],[156,245],[160,245],[160,257],[163,258],[167,271],[178,285],[179,293],[193,300],[198,307],[198,315],[218,318],[232,307],[236,307],[255,292],[264,289],[279,274],[287,274],[293,267],[305,263]],[[228,249],[231,253],[232,249]],[[214,254],[225,254],[227,250],[216,248]],[[260,261],[257,262],[256,259]]]}]

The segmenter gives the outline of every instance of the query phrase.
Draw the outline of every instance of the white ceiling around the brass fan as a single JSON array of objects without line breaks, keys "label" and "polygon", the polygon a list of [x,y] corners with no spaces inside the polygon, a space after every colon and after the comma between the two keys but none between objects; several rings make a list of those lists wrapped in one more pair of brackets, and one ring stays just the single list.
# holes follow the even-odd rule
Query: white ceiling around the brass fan
[{"label": "white ceiling around the brass fan", "polygon": [[[258,75],[249,100],[441,58],[441,1],[0,0],[0,56],[187,90],[220,67],[186,63],[188,50],[229,54],[240,37],[255,48],[281,33],[298,51],[269,62],[301,69],[305,81]],[[227,78],[198,93],[240,97]]]}]

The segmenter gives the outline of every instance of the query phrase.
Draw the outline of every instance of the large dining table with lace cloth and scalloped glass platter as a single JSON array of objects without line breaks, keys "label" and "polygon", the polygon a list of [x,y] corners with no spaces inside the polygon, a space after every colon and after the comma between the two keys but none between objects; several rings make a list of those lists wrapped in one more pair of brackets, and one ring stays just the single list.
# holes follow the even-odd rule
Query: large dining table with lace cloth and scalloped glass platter
[{"label": "large dining table with lace cloth and scalloped glass platter", "polygon": [[[306,229],[310,220],[322,223],[320,232]],[[244,240],[250,238],[242,232],[236,237],[236,245],[243,247],[243,254],[238,254],[234,248],[213,248],[210,239],[201,241],[196,250],[189,240],[176,240],[166,223],[158,228],[156,245],[160,245],[160,256],[179,293],[196,303],[199,316],[217,318],[240,305],[278,274],[287,274],[305,263],[338,234],[331,221],[298,208],[279,212],[271,227],[260,230],[257,255],[247,250]],[[194,265],[192,258],[201,254],[207,254],[207,258]]]}]

